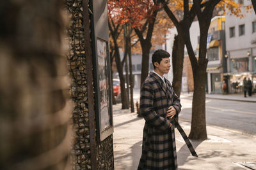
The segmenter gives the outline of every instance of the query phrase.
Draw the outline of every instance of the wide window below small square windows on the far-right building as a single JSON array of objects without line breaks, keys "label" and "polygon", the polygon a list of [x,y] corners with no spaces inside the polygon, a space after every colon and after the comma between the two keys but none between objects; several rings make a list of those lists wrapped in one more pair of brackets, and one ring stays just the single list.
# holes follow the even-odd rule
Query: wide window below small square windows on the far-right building
[{"label": "wide window below small square windows on the far-right building", "polygon": [[248,58],[232,59],[230,65],[231,65],[230,69],[232,73],[246,72],[248,71]]}]

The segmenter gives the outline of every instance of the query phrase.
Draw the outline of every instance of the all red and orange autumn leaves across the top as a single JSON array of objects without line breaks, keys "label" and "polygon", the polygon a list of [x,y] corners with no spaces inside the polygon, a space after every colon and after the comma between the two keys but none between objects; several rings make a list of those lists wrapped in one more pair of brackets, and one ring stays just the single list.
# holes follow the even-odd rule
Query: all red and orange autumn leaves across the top
[{"label": "all red and orange autumn leaves across the top", "polygon": [[[168,6],[170,10],[176,15],[177,20],[183,18],[183,0],[170,0]],[[207,3],[207,1],[202,1],[202,3]],[[193,6],[193,0],[189,0],[189,10]],[[152,13],[154,10],[159,10],[161,5],[154,4],[153,1],[148,0],[108,0],[108,15],[112,18],[116,24],[124,25],[131,24],[131,27],[138,27],[142,29],[143,22],[148,18],[152,18]],[[242,6],[236,3],[234,0],[221,0],[220,3],[216,5],[218,11],[222,11],[220,15],[225,15],[225,10],[230,11],[230,15],[236,15],[237,17],[244,17],[245,15],[241,12],[241,8],[245,8],[246,11],[252,9],[250,6]],[[168,32],[169,28],[174,25],[170,18],[166,15],[163,10],[157,13],[156,24],[154,27],[154,32],[152,36],[152,48],[156,48],[157,45],[163,45],[166,41],[164,37]],[[146,32],[144,32],[146,36]],[[122,35],[122,33],[121,33]],[[131,43],[138,41],[138,37],[135,32],[132,31]],[[118,45],[122,48],[124,45],[124,37],[119,36]],[[132,53],[141,53],[140,41],[136,45],[132,46]]]}]

